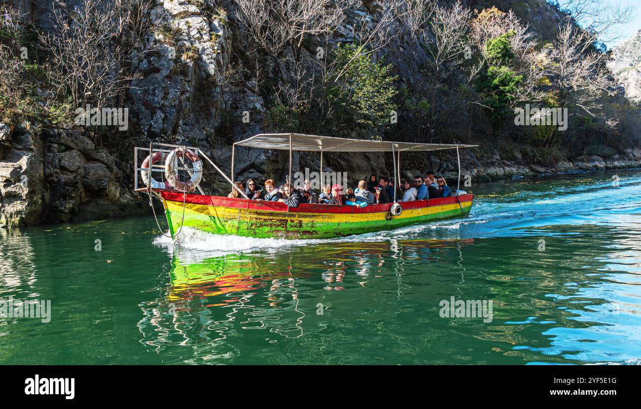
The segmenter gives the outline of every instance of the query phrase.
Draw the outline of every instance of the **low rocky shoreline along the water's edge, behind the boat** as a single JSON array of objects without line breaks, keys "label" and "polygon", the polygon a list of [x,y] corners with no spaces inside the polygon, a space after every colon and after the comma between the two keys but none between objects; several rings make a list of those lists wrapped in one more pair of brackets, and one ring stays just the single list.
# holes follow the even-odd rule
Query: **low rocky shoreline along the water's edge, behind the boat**
[{"label": "low rocky shoreline along the water's edge, behind the boat", "polygon": [[[119,154],[97,140],[96,135],[82,129],[9,129],[0,144],[0,228],[147,214],[147,195],[133,191],[133,158],[121,160]],[[599,147],[590,149],[595,151]],[[205,148],[204,152],[221,169],[230,169],[231,147]],[[455,181],[456,153],[435,152],[438,153],[401,155],[400,178],[434,171],[448,181]],[[268,149],[240,148],[235,157],[235,180],[252,178],[262,183],[274,179],[284,183],[288,174],[283,156]],[[347,185],[356,185],[370,174],[389,175],[393,168],[391,158],[389,163],[387,159],[381,153],[334,153],[326,156],[323,169],[345,172]],[[638,169],[641,147],[628,147],[603,158],[594,154],[572,157],[567,151],[528,145],[485,144],[463,149],[460,160],[465,190],[469,183]],[[319,162],[314,157],[294,155],[292,168],[315,171]],[[216,196],[226,196],[229,185],[212,173],[203,188]]]}]

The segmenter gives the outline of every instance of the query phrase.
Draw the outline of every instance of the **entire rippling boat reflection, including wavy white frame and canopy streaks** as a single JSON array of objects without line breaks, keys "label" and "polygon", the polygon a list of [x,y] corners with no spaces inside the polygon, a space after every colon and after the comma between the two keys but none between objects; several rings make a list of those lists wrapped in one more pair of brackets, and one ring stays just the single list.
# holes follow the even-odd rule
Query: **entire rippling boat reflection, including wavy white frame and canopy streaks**
[{"label": "entire rippling boat reflection, including wavy white frame and canopy streaks", "polygon": [[218,342],[245,330],[298,338],[322,330],[330,311],[333,319],[347,313],[332,310],[329,292],[355,291],[392,271],[395,297],[401,297],[404,263],[460,265],[460,249],[472,244],[471,238],[328,242],[278,253],[218,256],[179,249],[172,255],[162,296],[153,306],[141,306],[141,342],[155,347]]}]

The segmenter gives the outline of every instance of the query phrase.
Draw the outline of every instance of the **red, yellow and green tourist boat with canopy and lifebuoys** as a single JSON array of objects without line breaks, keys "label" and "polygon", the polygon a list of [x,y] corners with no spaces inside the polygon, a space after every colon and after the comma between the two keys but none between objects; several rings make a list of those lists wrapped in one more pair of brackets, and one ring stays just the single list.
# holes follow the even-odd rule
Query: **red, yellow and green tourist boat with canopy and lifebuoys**
[{"label": "red, yellow and green tourist boat with canopy and lifebuoys", "polygon": [[[292,151],[320,152],[320,172],[322,155],[329,152],[391,152],[394,163],[394,180],[400,174],[400,153],[408,151],[435,151],[437,149],[456,149],[458,161],[458,183],[453,196],[438,199],[417,200],[406,203],[387,203],[365,207],[349,205],[320,205],[301,203],[291,208],[285,203],[255,201],[233,184],[235,146],[260,149],[283,149],[290,152],[290,178]],[[472,194],[460,190],[460,157],[458,149],[469,147],[460,144],[412,144],[408,142],[388,142],[376,140],[357,140],[319,135],[259,134],[236,142],[232,147],[231,177],[215,165],[196,147],[169,144],[150,144],[147,148],[135,148],[138,154],[149,155],[138,167],[135,175],[135,188],[149,192],[163,203],[165,217],[169,224],[169,235],[176,237],[185,227],[219,235],[238,235],[256,238],[331,238],[347,235],[391,230],[412,224],[424,224],[440,219],[465,216],[472,207]],[[204,194],[199,181],[203,173],[203,158],[208,161],[239,192],[238,198]],[[181,162],[179,165],[178,162]],[[156,165],[164,162],[164,165]],[[188,163],[187,163],[188,162]],[[187,172],[190,179],[183,181],[179,171]],[[140,177],[138,177],[140,172]],[[164,181],[151,175],[160,172]],[[140,181],[146,186],[138,186]],[[197,190],[197,192],[196,192]],[[155,213],[154,213],[155,214]]]}]

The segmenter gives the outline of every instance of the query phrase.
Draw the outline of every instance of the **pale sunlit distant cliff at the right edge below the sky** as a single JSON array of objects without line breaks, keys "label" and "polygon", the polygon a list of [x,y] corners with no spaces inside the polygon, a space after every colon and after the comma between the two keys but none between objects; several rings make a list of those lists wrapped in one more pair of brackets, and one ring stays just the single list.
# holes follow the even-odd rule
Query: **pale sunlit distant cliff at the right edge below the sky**
[{"label": "pale sunlit distant cliff at the right edge below the sky", "polygon": [[641,102],[641,30],[612,49],[608,67],[626,90],[626,97]]}]

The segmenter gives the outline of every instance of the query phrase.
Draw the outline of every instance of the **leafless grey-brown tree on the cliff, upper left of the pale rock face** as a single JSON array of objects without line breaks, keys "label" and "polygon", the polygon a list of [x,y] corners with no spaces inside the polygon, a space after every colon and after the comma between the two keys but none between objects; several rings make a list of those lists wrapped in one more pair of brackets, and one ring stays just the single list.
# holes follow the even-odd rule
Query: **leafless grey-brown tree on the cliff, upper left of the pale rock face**
[{"label": "leafless grey-brown tree on the cliff, upper left of the pale rock face", "polygon": [[122,95],[136,77],[128,72],[128,54],[151,24],[152,6],[151,0],[83,0],[68,11],[56,1],[55,29],[40,34],[56,92],[68,90],[75,106]]}]

